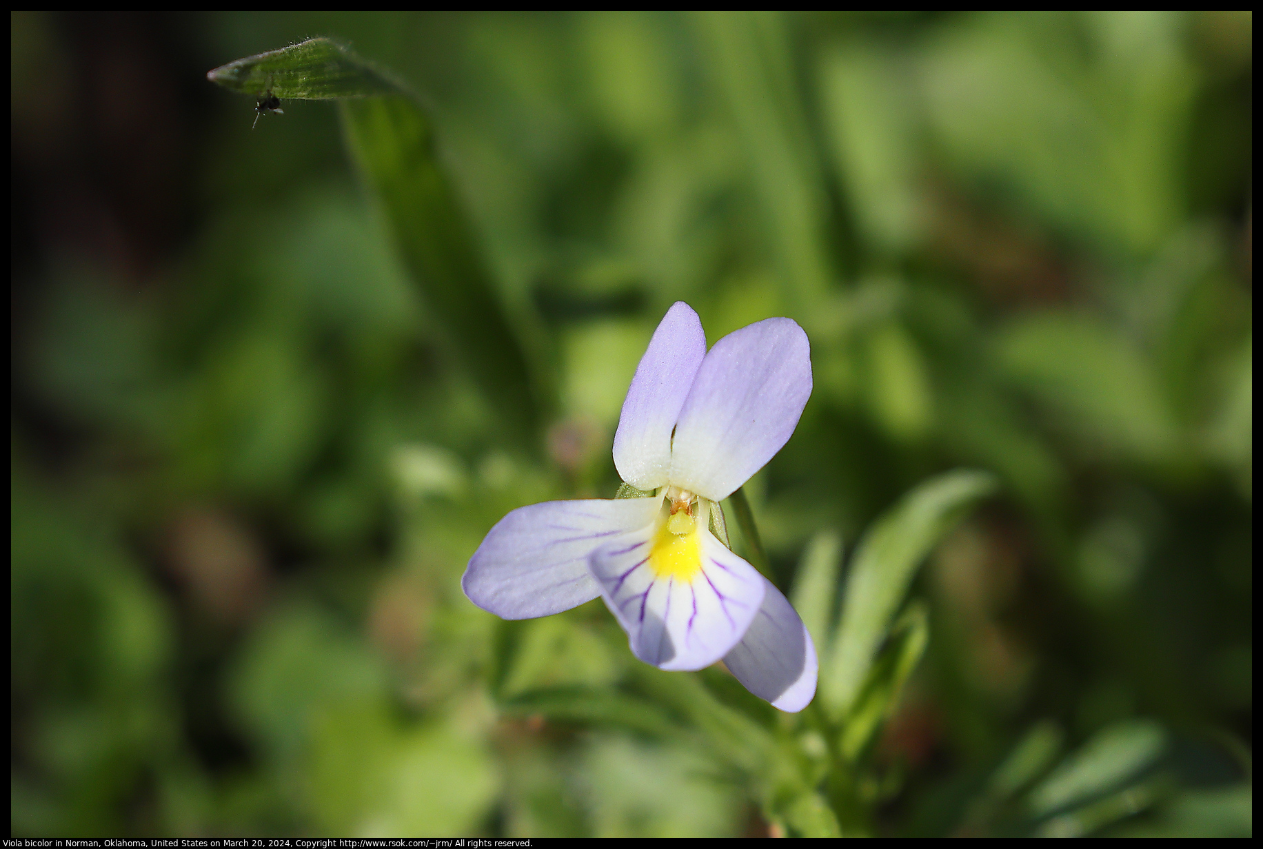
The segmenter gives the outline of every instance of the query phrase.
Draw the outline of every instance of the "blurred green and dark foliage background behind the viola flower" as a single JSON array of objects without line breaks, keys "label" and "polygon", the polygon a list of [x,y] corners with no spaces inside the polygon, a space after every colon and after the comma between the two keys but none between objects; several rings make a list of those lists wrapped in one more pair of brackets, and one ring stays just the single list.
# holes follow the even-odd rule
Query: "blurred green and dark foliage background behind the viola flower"
[{"label": "blurred green and dark foliage background behind the viola flower", "polygon": [[[746,488],[782,589],[927,475],[1003,481],[914,585],[879,834],[1036,828],[1004,792],[1128,733],[1157,801],[1056,828],[1249,834],[1249,13],[10,23],[13,835],[768,834],[692,738],[496,709],[634,686],[600,601],[506,630],[458,585],[506,510],[613,497],[677,299],[811,337]],[[206,80],[313,35],[429,105],[524,428],[333,105],[251,130]]]}]

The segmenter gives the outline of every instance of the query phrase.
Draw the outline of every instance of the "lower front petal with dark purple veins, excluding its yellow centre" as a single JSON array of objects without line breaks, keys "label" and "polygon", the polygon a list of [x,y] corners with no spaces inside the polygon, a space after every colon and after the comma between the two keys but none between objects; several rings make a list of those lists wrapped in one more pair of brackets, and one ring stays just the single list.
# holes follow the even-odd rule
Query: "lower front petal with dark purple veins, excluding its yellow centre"
[{"label": "lower front petal with dark purple veins, excluding its yellow centre", "polygon": [[763,576],[705,528],[698,529],[697,575],[658,576],[649,562],[654,533],[645,528],[599,548],[592,575],[633,654],[663,670],[703,668],[749,628],[763,603]]}]

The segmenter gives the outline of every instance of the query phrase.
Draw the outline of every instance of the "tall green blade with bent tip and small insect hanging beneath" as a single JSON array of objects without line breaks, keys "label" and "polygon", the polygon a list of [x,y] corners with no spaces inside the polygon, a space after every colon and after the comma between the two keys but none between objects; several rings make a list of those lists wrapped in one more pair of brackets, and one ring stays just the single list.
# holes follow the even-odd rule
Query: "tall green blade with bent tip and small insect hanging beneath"
[{"label": "tall green blade with bent tip and small insect hanging beneath", "polygon": [[341,101],[347,148],[383,205],[404,267],[436,330],[518,440],[538,424],[525,349],[491,284],[434,150],[433,130],[402,83],[328,39],[237,59],[207,73],[232,91]]}]

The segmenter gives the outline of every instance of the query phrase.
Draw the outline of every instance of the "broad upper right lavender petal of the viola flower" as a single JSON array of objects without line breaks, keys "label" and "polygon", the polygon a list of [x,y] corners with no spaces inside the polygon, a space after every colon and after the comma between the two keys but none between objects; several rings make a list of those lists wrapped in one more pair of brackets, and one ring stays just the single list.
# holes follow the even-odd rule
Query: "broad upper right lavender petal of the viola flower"
[{"label": "broad upper right lavender petal of the viola flower", "polygon": [[679,413],[671,483],[727,498],[789,440],[808,395],[811,347],[792,320],[765,318],[719,340]]}]

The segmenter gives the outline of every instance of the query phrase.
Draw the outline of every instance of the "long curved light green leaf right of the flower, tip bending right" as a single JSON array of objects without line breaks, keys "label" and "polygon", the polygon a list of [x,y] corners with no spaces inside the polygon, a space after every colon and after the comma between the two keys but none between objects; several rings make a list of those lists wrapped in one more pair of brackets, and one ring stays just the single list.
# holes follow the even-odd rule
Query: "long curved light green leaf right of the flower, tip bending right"
[{"label": "long curved light green leaf right of the flower, tip bending right", "polygon": [[851,561],[831,666],[821,671],[820,692],[836,716],[859,695],[917,566],[994,489],[995,478],[988,473],[947,473],[917,486],[873,523]]}]

